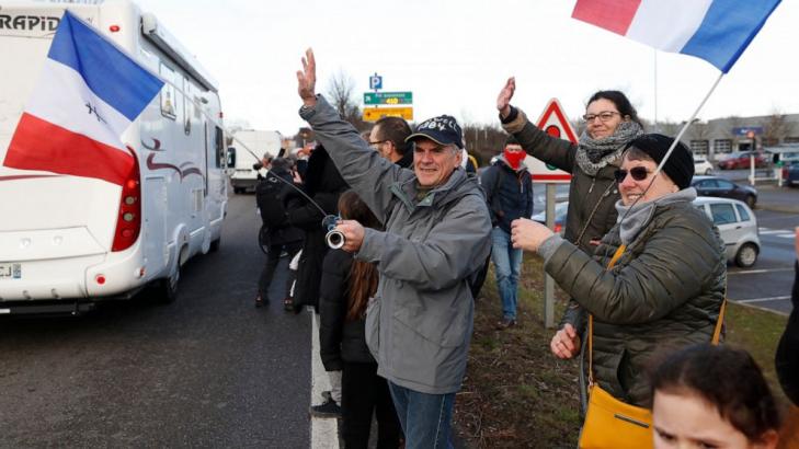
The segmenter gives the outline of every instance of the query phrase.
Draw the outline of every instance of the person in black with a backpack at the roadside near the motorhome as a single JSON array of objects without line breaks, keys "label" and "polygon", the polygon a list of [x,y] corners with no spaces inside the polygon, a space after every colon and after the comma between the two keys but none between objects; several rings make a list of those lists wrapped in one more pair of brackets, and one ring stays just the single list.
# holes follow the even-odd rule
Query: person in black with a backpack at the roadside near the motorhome
[{"label": "person in black with a backpack at the roadside near the motorhome", "polygon": [[[288,222],[284,202],[293,191],[287,183],[293,183],[292,162],[287,159],[275,158],[271,166],[255,186],[255,203],[261,214],[261,244],[267,247],[266,264],[261,272],[255,297],[255,307],[269,303],[269,289],[272,277],[279,262],[281,254],[285,252],[288,258],[297,254],[303,246],[303,230]],[[290,286],[287,286],[289,289]]]}]

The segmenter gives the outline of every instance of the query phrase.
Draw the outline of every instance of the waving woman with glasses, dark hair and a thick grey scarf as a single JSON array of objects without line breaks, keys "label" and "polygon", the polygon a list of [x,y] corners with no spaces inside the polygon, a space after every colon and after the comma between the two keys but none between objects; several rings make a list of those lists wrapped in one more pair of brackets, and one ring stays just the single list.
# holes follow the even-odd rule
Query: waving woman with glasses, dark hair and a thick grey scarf
[{"label": "waving woman with glasses, dark hair and a thick grey scarf", "polygon": [[[616,225],[619,193],[614,172],[621,164],[627,143],[643,134],[638,113],[624,93],[598,91],[589,99],[582,117],[585,131],[573,145],[538,129],[522,110],[511,106],[515,90],[516,80],[510,78],[496,99],[502,127],[527,154],[571,173],[563,238],[592,255],[602,237]],[[585,316],[577,302],[569,301],[560,330],[550,343],[556,356],[571,358],[580,352]],[[556,350],[558,347],[567,350]]]}]

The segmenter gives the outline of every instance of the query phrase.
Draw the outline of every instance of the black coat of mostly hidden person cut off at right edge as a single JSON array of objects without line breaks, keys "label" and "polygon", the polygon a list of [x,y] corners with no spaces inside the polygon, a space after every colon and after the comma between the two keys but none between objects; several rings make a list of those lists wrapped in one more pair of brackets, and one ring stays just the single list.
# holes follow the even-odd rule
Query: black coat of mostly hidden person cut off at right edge
[{"label": "black coat of mostly hidden person cut off at right edge", "polygon": [[794,270],[796,275],[790,293],[794,310],[777,346],[776,367],[785,395],[794,405],[799,405],[799,261],[794,262]]}]

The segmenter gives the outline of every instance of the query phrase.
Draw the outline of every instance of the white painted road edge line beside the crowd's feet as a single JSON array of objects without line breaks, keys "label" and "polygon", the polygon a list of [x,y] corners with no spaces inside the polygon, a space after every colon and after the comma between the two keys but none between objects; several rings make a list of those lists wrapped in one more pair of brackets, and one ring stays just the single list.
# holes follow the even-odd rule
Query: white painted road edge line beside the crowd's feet
[{"label": "white painted road edge line beside the crowd's feet", "polygon": [[[311,310],[311,403],[322,402],[322,391],[330,390],[330,379],[319,356],[319,322]],[[311,449],[339,449],[339,419],[311,416]]]}]

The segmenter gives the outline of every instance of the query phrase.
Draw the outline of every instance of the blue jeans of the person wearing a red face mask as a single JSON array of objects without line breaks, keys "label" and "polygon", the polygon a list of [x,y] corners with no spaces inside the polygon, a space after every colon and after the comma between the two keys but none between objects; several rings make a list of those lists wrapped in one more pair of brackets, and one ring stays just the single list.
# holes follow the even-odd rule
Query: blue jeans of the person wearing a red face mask
[{"label": "blue jeans of the person wearing a red face mask", "polygon": [[513,247],[511,234],[499,226],[491,230],[491,261],[494,263],[496,289],[500,290],[502,299],[502,315],[515,320],[522,250]]}]

